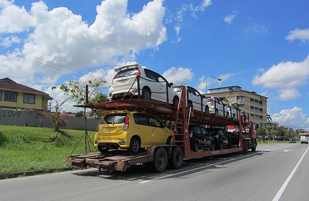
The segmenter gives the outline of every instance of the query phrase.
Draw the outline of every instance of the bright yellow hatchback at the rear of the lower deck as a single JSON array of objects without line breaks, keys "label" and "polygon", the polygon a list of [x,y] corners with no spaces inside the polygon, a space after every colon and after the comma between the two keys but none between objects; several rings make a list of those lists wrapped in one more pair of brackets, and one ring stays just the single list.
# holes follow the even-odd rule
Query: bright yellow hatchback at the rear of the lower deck
[{"label": "bright yellow hatchback at the rear of the lower deck", "polygon": [[171,130],[151,114],[127,110],[112,110],[104,114],[94,139],[95,146],[102,153],[109,148],[138,153],[140,148],[166,144],[171,140]]}]

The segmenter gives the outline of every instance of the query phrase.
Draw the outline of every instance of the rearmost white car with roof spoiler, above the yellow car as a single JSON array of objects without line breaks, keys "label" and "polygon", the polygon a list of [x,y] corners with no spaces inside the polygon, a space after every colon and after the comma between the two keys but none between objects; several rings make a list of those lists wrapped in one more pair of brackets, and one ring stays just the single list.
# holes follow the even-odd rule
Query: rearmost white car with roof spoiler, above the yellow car
[{"label": "rearmost white car with roof spoiler, above the yellow car", "polygon": [[[139,64],[115,68],[116,75],[112,79],[112,86],[108,90],[108,99],[117,100],[123,97],[138,96],[138,80],[140,76],[140,95],[142,99],[156,100],[178,105],[178,93],[162,75]],[[168,93],[167,93],[168,92]]]}]

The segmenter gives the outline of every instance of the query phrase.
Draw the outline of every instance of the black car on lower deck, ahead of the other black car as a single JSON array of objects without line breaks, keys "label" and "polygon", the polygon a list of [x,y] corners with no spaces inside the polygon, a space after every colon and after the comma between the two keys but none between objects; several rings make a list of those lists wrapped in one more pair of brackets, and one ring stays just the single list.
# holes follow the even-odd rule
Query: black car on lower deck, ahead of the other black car
[{"label": "black car on lower deck, ahead of the other black car", "polygon": [[206,130],[214,137],[216,148],[227,149],[230,148],[229,136],[226,131],[221,128],[206,128]]}]

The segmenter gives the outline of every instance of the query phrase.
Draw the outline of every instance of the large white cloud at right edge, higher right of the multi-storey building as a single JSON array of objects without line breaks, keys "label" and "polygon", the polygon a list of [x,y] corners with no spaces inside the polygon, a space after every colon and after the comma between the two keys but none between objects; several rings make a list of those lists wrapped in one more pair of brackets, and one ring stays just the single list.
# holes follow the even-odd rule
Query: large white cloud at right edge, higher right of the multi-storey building
[{"label": "large white cloud at right edge, higher right of the multi-storey building", "polygon": [[281,62],[273,65],[262,75],[255,75],[252,84],[265,88],[296,87],[307,84],[309,55],[303,62]]}]

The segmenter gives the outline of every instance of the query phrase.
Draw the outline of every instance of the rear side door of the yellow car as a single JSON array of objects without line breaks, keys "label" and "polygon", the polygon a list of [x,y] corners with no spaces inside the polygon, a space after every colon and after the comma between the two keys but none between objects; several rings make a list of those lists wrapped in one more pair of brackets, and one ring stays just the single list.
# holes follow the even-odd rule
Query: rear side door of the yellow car
[{"label": "rear side door of the yellow car", "polygon": [[136,131],[141,137],[141,144],[146,146],[152,145],[153,130],[150,126],[150,119],[147,114],[135,113],[133,114]]}]

